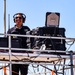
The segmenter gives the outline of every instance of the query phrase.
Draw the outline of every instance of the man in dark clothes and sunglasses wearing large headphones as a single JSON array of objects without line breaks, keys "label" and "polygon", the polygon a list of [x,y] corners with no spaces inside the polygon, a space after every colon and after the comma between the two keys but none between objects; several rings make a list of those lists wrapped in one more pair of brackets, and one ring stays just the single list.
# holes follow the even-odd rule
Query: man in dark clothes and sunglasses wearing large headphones
[{"label": "man in dark clothes and sunglasses wearing large headphones", "polygon": [[[23,13],[16,13],[13,16],[15,26],[8,30],[8,34],[21,34],[26,35],[27,31],[30,31],[28,26],[24,26],[23,23],[26,20],[26,16]],[[21,38],[22,48],[27,48],[26,37],[18,37]],[[21,52],[21,51],[20,51]],[[19,70],[21,75],[27,75],[28,65],[27,64],[12,64],[12,75],[19,75]]]}]

